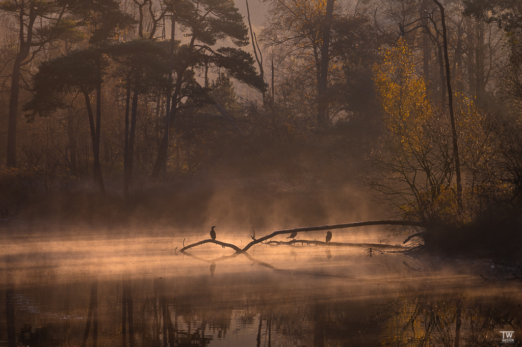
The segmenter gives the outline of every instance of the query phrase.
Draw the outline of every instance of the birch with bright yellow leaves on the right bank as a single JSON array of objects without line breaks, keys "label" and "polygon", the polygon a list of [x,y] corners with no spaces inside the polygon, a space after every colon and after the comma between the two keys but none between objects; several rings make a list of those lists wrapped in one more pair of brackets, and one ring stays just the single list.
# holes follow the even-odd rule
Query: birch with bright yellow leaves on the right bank
[{"label": "birch with bright yellow leaves on the right bank", "polygon": [[[371,186],[407,219],[459,224],[493,181],[497,143],[490,119],[456,94],[466,217],[458,213],[452,129],[436,108],[405,40],[383,49],[374,82],[384,117],[382,142],[373,153],[378,175]],[[474,210],[473,212],[479,213]]]}]

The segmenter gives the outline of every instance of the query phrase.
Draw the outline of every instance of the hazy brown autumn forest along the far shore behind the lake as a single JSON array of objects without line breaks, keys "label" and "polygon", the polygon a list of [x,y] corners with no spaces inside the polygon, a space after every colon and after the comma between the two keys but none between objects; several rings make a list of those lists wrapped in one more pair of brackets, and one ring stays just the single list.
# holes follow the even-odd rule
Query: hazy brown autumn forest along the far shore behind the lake
[{"label": "hazy brown autumn forest along the far shore behind the lake", "polygon": [[0,1],[2,217],[334,224],[365,185],[395,236],[513,251],[519,1],[264,4]]}]

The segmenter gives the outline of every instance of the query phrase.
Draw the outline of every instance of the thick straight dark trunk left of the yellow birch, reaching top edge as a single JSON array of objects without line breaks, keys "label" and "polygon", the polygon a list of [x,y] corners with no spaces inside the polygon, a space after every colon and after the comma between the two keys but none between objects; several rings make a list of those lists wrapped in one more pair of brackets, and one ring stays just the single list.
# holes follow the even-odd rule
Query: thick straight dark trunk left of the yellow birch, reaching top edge
[{"label": "thick straight dark trunk left of the yellow birch, reaching top edge", "polygon": [[323,44],[321,45],[321,70],[319,73],[319,83],[317,90],[319,98],[317,108],[317,126],[319,128],[327,127],[329,123],[326,87],[328,83],[328,63],[330,60],[328,53],[330,49],[330,29],[334,14],[334,3],[335,0],[327,0],[326,2],[326,23],[323,29]]}]

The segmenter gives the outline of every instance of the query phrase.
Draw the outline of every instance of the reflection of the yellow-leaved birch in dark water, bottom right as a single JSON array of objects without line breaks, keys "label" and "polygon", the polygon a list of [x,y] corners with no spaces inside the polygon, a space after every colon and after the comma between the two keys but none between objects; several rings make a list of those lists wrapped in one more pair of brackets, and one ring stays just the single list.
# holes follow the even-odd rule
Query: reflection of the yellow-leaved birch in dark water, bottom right
[{"label": "reflection of the yellow-leaved birch in dark water, bottom right", "polygon": [[520,307],[508,302],[484,304],[455,294],[403,296],[391,305],[396,315],[386,318],[382,337],[390,346],[491,345],[500,330],[522,328]]}]

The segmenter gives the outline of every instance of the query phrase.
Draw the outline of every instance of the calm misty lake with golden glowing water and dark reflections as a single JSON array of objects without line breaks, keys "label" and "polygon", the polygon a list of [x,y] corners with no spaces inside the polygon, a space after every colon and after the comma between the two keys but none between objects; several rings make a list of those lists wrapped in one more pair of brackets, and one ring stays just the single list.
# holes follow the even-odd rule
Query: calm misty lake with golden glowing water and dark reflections
[{"label": "calm misty lake with golden glowing water and dark reflections", "polygon": [[[301,244],[184,255],[184,238],[208,233],[0,231],[2,346],[476,346],[522,336],[522,281],[496,280],[513,270],[487,260]],[[336,241],[378,242],[363,229],[343,235],[334,231]]]}]

